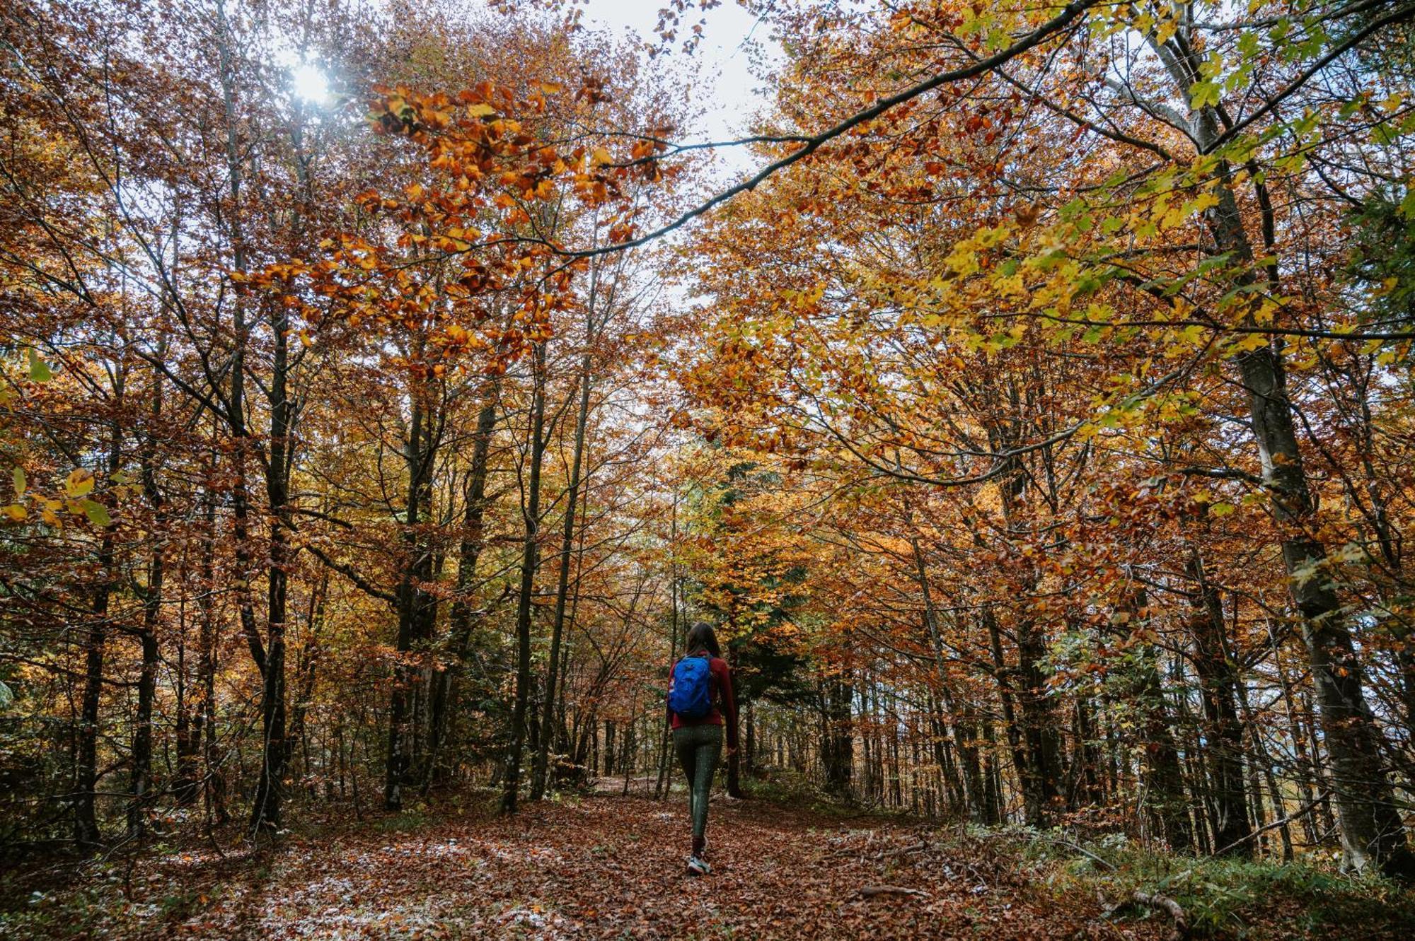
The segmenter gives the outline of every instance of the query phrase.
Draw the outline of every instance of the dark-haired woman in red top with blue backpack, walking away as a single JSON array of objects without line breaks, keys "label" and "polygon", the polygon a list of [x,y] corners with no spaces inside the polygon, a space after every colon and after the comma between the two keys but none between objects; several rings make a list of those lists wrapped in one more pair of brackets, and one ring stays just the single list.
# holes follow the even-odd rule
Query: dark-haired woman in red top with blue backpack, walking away
[{"label": "dark-haired woman in red top with blue backpack, walking away", "polygon": [[723,725],[727,726],[727,754],[737,750],[737,699],[732,694],[732,671],[722,658],[712,626],[695,623],[688,632],[686,650],[668,681],[668,725],[678,763],[688,776],[688,812],[693,818],[688,875],[705,876],[709,872],[708,794],[722,754]]}]

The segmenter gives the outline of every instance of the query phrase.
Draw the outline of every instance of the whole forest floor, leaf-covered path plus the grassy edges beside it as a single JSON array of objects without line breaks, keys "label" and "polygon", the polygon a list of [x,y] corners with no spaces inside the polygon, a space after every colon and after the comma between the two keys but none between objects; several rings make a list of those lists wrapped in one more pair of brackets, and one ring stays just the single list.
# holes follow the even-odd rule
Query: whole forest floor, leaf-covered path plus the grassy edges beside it
[{"label": "whole forest floor, leaf-covered path plus the grassy edges beside it", "polygon": [[[767,800],[715,797],[713,872],[688,877],[685,801],[606,793],[617,790],[512,818],[443,803],[331,819],[275,846],[167,846],[82,875],[69,866],[62,880],[52,866],[16,870],[0,877],[0,937],[1179,937],[1163,903],[1133,900],[1136,887],[1189,906],[1194,937],[1415,937],[1415,901],[1378,884],[1289,875],[1242,896],[1189,884],[1190,873],[1049,856],[1016,834]],[[1197,910],[1203,893],[1228,903]]]}]

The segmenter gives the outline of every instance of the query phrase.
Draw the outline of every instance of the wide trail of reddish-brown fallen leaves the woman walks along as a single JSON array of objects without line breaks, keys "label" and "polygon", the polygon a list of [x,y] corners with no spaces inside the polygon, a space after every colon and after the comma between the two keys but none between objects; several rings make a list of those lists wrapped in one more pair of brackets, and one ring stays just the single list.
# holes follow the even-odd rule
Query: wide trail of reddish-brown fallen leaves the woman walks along
[{"label": "wide trail of reddish-brown fallen leaves the woman walks along", "polygon": [[[954,831],[949,831],[952,834]],[[100,937],[1160,938],[996,853],[927,831],[713,798],[713,873],[683,875],[686,808],[570,797],[512,818],[412,815],[291,834],[277,851],[139,863]],[[924,844],[924,846],[921,846]],[[976,845],[974,849],[986,846]],[[879,892],[880,886],[904,892]],[[116,887],[115,887],[116,892]],[[72,934],[72,923],[55,925]]]}]

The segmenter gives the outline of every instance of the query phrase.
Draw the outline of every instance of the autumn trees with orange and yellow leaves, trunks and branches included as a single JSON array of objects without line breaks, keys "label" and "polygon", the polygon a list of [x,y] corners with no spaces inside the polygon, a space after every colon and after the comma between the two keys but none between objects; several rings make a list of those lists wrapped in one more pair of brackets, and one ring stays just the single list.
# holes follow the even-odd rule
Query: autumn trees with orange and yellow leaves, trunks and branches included
[{"label": "autumn trees with orange and yellow leaves, trunks and branches included", "polygon": [[662,793],[706,619],[733,793],[1415,877],[1415,3],[750,0],[705,143],[716,6],[0,11],[0,838]]}]

